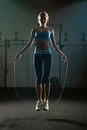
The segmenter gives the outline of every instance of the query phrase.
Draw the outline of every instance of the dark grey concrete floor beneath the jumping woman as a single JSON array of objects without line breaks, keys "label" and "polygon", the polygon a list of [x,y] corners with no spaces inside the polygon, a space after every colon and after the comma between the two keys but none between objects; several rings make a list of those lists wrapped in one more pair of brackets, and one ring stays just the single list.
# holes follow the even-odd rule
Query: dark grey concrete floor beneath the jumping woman
[{"label": "dark grey concrete floor beneath the jumping woman", "polygon": [[[12,97],[13,98],[13,97]],[[11,99],[11,97],[10,97]],[[35,111],[36,98],[0,101],[0,130],[87,130],[84,98],[50,98],[49,111]]]}]

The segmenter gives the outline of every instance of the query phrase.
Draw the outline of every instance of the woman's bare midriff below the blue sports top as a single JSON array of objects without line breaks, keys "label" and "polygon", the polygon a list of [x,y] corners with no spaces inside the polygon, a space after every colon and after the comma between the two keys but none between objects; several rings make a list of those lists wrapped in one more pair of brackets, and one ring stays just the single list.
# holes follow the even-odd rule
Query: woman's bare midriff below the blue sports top
[{"label": "woman's bare midriff below the blue sports top", "polygon": [[50,42],[48,41],[40,41],[36,43],[36,48],[39,50],[44,50],[50,48]]}]

